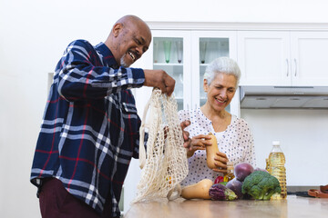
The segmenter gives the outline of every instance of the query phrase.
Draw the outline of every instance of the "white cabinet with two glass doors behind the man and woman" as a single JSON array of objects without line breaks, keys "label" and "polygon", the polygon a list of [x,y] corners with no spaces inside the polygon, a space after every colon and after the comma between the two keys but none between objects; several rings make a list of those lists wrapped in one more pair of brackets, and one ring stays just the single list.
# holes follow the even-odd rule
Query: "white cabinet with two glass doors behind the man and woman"
[{"label": "white cabinet with two glass doors behind the man and woman", "polygon": [[[237,61],[236,31],[152,30],[152,37],[150,55],[143,57],[147,60],[144,66],[162,69],[176,80],[174,94],[179,110],[205,104],[203,74],[212,60],[230,56]],[[151,89],[146,93],[136,90],[137,105],[140,102],[145,105],[150,92]],[[227,108],[237,116],[240,115],[238,100],[239,92],[236,92]]]}]

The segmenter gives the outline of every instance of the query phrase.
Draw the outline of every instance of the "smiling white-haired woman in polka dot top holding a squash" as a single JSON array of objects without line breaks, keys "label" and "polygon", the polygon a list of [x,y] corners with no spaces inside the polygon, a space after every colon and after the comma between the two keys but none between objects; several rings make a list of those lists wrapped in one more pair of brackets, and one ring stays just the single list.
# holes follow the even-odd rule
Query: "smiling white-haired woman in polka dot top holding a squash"
[{"label": "smiling white-haired woman in polka dot top holding a squash", "polygon": [[[198,183],[202,179],[214,180],[227,172],[227,162],[251,163],[255,167],[254,144],[249,125],[245,120],[226,111],[236,93],[241,70],[231,58],[215,59],[206,68],[203,88],[207,101],[195,110],[179,111],[180,121],[190,120],[186,128],[193,149],[188,151],[190,171],[181,185]],[[218,144],[210,144],[209,133],[216,136]],[[215,157],[216,169],[206,163],[205,146],[219,146]]]}]

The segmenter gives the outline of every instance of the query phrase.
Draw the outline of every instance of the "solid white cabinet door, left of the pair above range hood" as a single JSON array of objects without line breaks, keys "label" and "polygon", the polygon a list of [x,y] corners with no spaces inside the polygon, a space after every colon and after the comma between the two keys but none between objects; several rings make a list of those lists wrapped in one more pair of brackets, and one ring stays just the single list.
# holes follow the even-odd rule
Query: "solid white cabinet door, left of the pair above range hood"
[{"label": "solid white cabinet door, left of the pair above range hood", "polygon": [[242,85],[291,85],[290,34],[238,31]]}]

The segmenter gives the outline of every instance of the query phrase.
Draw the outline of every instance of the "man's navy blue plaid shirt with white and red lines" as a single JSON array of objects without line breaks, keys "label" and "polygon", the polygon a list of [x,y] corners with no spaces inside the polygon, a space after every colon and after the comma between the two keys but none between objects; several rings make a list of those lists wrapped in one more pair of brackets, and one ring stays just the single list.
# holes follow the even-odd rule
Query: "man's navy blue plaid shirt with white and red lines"
[{"label": "man's navy blue plaid shirt with white and red lines", "polygon": [[128,164],[138,158],[140,119],[129,88],[144,81],[142,69],[118,68],[103,43],[68,45],[56,65],[31,182],[40,186],[42,178],[56,177],[98,213],[110,196],[118,216]]}]

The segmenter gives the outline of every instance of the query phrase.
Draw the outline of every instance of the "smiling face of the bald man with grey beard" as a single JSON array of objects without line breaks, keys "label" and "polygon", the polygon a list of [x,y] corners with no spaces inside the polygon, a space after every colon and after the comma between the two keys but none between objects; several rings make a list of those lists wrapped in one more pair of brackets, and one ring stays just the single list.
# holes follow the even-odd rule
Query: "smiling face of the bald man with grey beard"
[{"label": "smiling face of the bald man with grey beard", "polygon": [[149,49],[151,34],[145,24],[123,26],[118,35],[118,64],[128,67],[135,63]]}]

